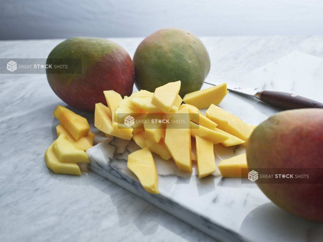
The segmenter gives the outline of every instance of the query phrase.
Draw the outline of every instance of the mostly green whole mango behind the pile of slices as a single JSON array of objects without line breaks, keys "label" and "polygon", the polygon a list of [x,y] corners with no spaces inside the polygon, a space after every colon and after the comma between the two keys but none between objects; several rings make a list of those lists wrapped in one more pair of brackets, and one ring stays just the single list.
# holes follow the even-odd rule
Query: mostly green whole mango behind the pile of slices
[{"label": "mostly green whole mango behind the pile of slices", "polygon": [[160,29],[146,37],[134,56],[138,90],[181,81],[179,95],[198,91],[210,71],[210,56],[201,40],[179,28]]}]

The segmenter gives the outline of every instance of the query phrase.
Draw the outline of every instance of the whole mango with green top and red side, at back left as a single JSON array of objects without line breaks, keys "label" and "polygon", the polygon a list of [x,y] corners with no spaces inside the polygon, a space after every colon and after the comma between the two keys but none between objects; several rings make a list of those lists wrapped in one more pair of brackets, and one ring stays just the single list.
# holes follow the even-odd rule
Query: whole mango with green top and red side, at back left
[{"label": "whole mango with green top and red side, at back left", "polygon": [[96,37],[73,37],[57,45],[46,64],[64,64],[54,58],[82,59],[82,74],[55,74],[46,69],[50,87],[68,105],[94,112],[96,103],[106,104],[103,91],[130,96],[135,71],[127,51],[120,45]]}]

